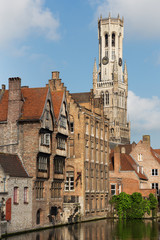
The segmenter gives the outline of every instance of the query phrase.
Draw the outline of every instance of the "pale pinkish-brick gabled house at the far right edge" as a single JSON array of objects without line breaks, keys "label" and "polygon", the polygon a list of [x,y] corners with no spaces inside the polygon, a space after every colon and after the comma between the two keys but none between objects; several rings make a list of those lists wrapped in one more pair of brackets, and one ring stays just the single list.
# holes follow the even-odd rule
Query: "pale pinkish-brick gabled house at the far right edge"
[{"label": "pale pinkish-brick gabled house at the far right edge", "polygon": [[[148,178],[147,187],[156,189],[160,202],[160,149],[153,149],[150,144],[150,136],[144,135],[130,154],[144,170]],[[145,188],[145,186],[142,184],[141,188]]]}]

